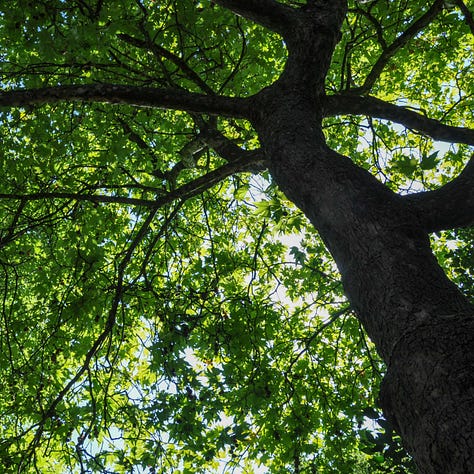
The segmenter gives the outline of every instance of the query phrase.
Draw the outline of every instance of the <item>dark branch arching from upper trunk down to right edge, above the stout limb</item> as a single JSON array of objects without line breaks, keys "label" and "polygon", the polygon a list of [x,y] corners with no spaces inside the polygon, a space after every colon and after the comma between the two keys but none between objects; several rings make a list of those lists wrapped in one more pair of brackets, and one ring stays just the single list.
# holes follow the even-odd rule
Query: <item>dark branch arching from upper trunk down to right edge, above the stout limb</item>
[{"label": "dark branch arching from upper trunk down to right edge, above the stout limb", "polygon": [[390,104],[375,97],[359,97],[349,94],[327,96],[323,99],[323,115],[368,115],[399,123],[409,129],[424,133],[434,140],[474,145],[474,130],[444,125],[413,110]]}]

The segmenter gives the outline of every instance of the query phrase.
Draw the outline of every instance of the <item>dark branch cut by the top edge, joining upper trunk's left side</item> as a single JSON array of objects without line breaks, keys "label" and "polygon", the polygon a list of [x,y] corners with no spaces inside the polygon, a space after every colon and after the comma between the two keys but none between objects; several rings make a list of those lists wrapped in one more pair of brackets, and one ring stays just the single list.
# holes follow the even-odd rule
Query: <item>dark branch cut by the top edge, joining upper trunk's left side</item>
[{"label": "dark branch cut by the top edge, joining upper trunk's left side", "polygon": [[288,31],[288,20],[294,12],[275,0],[214,0],[214,3],[282,35]]}]

